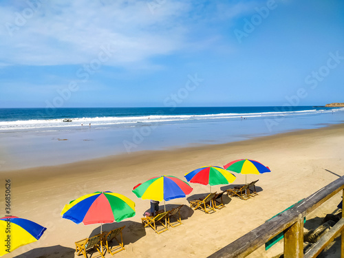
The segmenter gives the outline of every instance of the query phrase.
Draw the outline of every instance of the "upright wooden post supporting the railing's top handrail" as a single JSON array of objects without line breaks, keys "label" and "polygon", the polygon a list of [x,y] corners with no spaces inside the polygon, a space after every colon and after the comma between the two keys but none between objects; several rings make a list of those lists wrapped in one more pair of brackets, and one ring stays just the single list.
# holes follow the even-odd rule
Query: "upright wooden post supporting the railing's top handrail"
[{"label": "upright wooden post supporting the railing's top handrail", "polygon": [[303,257],[303,217],[284,232],[284,258]]}]

